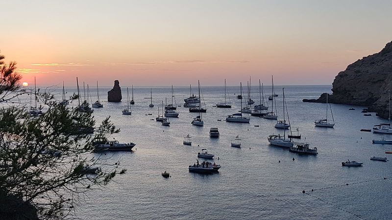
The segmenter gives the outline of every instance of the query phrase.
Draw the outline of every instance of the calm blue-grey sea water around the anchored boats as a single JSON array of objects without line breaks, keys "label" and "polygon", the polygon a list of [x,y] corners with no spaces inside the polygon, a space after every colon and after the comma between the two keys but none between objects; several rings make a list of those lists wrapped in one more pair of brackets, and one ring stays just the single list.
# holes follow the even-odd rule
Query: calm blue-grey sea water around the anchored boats
[{"label": "calm blue-grey sea water around the anchored boats", "polygon": [[[202,82],[201,82],[202,83]],[[96,100],[96,88],[91,89]],[[251,116],[250,124],[223,121],[240,110],[237,87],[228,87],[231,109],[213,108],[223,101],[223,87],[202,87],[207,113],[204,127],[191,125],[198,113],[178,107],[179,118],[171,118],[171,126],[151,121],[158,106],[168,98],[171,88],[152,88],[154,108],[148,108],[150,88],[134,87],[135,105],[132,115],[122,115],[126,108],[126,87],[122,85],[123,102],[108,103],[107,91],[99,88],[102,109],[94,116],[101,121],[111,116],[121,129],[114,137],[120,142],[134,142],[133,152],[108,153],[120,159],[128,171],[116,176],[103,191],[89,193],[77,217],[85,220],[123,219],[391,219],[392,162],[371,161],[371,156],[387,156],[387,145],[373,145],[380,135],[360,132],[385,122],[375,116],[363,116],[361,107],[332,104],[335,128],[317,128],[315,119],[325,117],[325,104],[303,103],[303,98],[317,98],[331,92],[330,86],[286,86],[285,94],[293,130],[299,128],[302,142],[317,147],[318,155],[298,155],[287,149],[270,146],[270,134],[283,134],[274,128],[276,121]],[[130,88],[129,88],[130,89]],[[196,94],[197,87],[192,88]],[[67,88],[69,94],[74,88]],[[244,88],[246,90],[246,88]],[[57,90],[60,91],[60,90]],[[270,87],[265,87],[270,94]],[[251,87],[251,97],[258,104],[258,86]],[[282,87],[276,86],[277,112],[282,116]],[[130,94],[131,95],[131,94]],[[189,97],[189,87],[174,87],[177,105]],[[60,94],[61,96],[61,94]],[[270,105],[270,103],[269,103]],[[152,113],[152,115],[146,115]],[[329,114],[329,117],[331,115]],[[217,121],[222,119],[222,121]],[[259,125],[260,127],[254,127]],[[211,139],[209,129],[218,127],[220,138]],[[190,134],[192,146],[182,144]],[[242,148],[230,146],[239,135]],[[305,139],[306,138],[306,139]],[[200,175],[188,172],[202,148],[219,156],[211,162],[221,164],[219,174]],[[293,161],[293,158],[295,159]],[[342,167],[346,159],[364,162],[363,167]],[[278,162],[280,160],[280,163]],[[201,162],[202,160],[200,160]],[[163,178],[168,171],[171,178]],[[346,186],[346,183],[357,183]],[[337,186],[343,185],[343,186]],[[326,187],[336,186],[327,189]],[[320,189],[311,192],[311,189]],[[306,190],[308,194],[303,194]]]}]

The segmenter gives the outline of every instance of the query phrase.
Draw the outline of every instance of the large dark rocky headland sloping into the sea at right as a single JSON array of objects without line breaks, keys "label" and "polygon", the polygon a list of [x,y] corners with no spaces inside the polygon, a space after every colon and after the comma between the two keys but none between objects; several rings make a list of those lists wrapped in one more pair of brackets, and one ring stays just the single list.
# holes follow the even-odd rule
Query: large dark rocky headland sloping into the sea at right
[{"label": "large dark rocky headland sloping into the sea at right", "polygon": [[[332,83],[333,93],[328,95],[328,102],[366,106],[378,116],[388,118],[389,89],[392,89],[392,42],[380,52],[363,57],[340,72]],[[325,102],[326,94],[302,101]]]}]

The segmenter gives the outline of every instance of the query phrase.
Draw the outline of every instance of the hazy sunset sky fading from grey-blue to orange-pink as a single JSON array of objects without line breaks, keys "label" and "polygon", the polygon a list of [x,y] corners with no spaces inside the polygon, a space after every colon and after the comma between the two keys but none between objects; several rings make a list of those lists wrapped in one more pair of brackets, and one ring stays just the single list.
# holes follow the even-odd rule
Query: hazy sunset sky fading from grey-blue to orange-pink
[{"label": "hazy sunset sky fading from grey-blue to orange-pink", "polygon": [[390,0],[8,0],[0,51],[23,81],[327,85],[392,41]]}]

